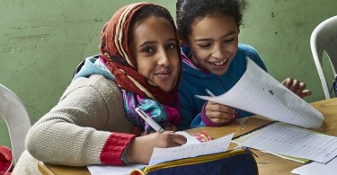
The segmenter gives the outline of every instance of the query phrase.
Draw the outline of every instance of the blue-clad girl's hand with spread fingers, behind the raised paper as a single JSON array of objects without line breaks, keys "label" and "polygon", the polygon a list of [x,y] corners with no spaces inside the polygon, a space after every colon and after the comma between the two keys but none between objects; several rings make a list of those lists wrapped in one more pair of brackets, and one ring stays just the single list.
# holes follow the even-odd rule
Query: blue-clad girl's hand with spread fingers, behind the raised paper
[{"label": "blue-clad girl's hand with spread fingers, behind the raised paper", "polygon": [[299,82],[293,78],[283,80],[282,84],[286,86],[291,92],[294,92],[300,98],[311,95],[311,91],[306,89],[306,83]]}]

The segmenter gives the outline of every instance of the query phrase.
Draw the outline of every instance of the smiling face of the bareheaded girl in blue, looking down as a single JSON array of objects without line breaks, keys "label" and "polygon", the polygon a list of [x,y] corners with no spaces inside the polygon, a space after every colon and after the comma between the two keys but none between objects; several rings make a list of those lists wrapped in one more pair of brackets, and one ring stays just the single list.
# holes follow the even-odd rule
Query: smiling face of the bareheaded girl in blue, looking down
[{"label": "smiling face of the bareheaded girl in blue, looking down", "polygon": [[212,74],[225,74],[235,57],[239,32],[235,19],[220,13],[193,22],[187,39],[191,61]]}]

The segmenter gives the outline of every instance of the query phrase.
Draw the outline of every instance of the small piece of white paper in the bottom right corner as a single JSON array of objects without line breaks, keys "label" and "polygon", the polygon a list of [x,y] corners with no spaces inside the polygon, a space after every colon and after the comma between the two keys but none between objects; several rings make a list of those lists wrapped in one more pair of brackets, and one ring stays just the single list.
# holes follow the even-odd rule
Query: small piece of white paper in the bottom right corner
[{"label": "small piece of white paper in the bottom right corner", "polygon": [[291,171],[301,175],[336,175],[337,174],[337,158],[326,164],[320,162],[311,162]]}]

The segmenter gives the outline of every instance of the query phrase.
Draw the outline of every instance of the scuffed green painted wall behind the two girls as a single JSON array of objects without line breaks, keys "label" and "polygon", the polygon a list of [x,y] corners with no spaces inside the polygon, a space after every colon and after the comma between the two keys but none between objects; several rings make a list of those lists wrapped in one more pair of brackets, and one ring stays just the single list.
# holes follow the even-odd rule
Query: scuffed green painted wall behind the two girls
[{"label": "scuffed green painted wall behind the two girls", "polygon": [[[135,0],[2,0],[0,2],[0,83],[23,101],[35,123],[57,102],[75,66],[98,53],[104,22]],[[148,1],[175,13],[175,1]],[[192,8],[192,7],[191,7]],[[335,0],[250,1],[240,41],[256,48],[271,75],[291,76],[313,91],[306,101],[324,99],[311,56],[315,26],[336,15]],[[0,144],[10,145],[0,118]]]}]

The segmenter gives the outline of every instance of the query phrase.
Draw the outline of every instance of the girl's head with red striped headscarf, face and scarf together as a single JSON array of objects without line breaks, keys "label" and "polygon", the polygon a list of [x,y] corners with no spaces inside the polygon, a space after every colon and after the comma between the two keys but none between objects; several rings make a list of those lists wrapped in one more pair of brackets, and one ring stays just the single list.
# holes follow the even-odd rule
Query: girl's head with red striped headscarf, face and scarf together
[{"label": "girl's head with red striped headscarf, face and scarf together", "polygon": [[[141,9],[142,6],[116,13],[120,17],[105,24],[100,59],[122,89],[129,120],[149,133],[153,129],[137,116],[137,107],[162,127],[176,126],[179,122],[177,87],[182,60],[170,13],[158,6]],[[166,24],[156,24],[162,21]],[[171,35],[161,30],[158,36],[155,33],[144,36],[142,32],[155,28],[146,31],[142,25],[163,27]]]}]

